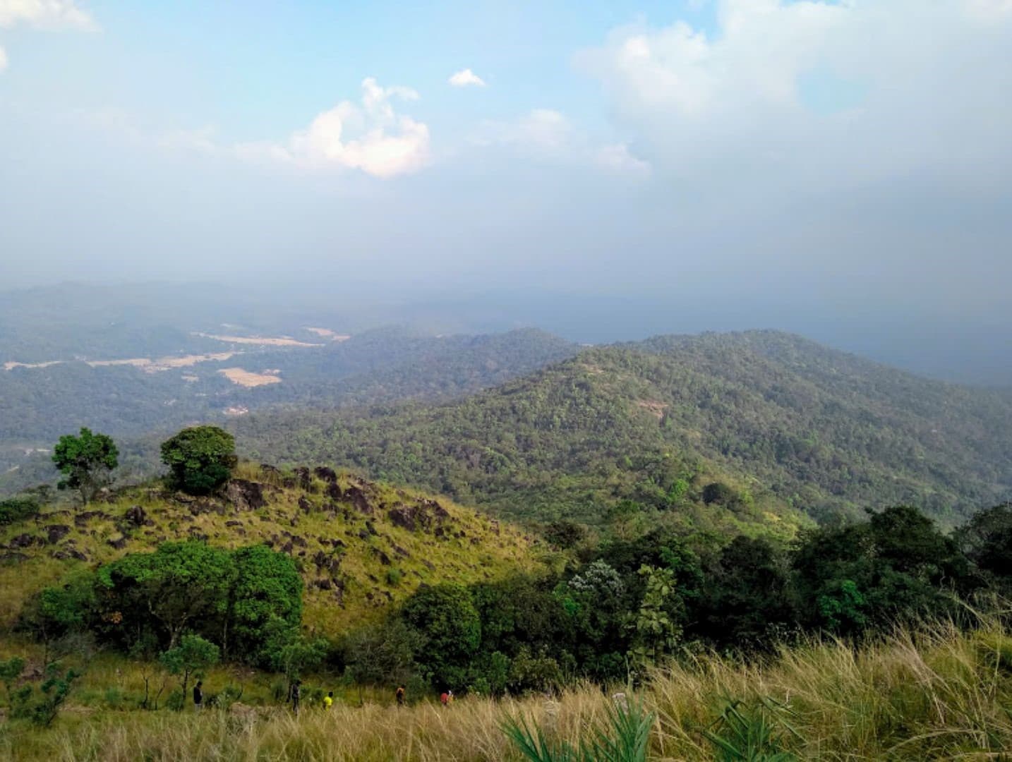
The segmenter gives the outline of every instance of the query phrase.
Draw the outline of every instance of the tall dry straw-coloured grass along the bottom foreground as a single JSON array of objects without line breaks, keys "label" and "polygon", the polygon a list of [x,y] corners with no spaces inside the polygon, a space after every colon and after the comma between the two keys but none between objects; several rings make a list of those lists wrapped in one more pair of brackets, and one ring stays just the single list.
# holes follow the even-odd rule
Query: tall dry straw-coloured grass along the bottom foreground
[{"label": "tall dry straw-coloured grass along the bottom foreground", "polygon": [[[812,640],[763,663],[697,656],[659,671],[642,692],[657,719],[651,759],[711,760],[705,737],[737,701],[783,707],[770,750],[798,759],[1007,759],[1012,754],[1012,638],[938,624],[859,648]],[[577,742],[606,723],[611,699],[585,686],[555,700],[468,697],[448,707],[366,704],[248,713],[92,711],[71,706],[46,731],[8,726],[0,755],[24,760],[515,760],[507,716]],[[758,714],[755,714],[758,716]],[[783,727],[777,726],[782,719]],[[791,732],[785,725],[789,723]],[[761,750],[760,750],[761,751]],[[1003,756],[1006,755],[1006,756]],[[754,756],[752,759],[763,759]]]}]

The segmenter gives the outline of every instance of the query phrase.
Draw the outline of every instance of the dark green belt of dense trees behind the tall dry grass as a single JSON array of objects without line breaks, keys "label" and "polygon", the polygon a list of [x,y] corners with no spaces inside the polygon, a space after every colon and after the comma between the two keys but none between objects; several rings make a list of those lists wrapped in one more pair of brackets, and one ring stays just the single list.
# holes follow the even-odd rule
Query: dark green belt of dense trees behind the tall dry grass
[{"label": "dark green belt of dense trees behind the tall dry grass", "polygon": [[[1001,529],[979,528],[977,539],[1009,552]],[[492,695],[584,679],[639,682],[686,652],[751,658],[809,634],[863,638],[897,622],[959,621],[961,601],[1010,583],[1012,566],[976,566],[956,539],[905,506],[808,531],[788,546],[655,530],[584,545],[556,574],[420,589],[370,629],[400,649],[387,660],[397,674],[370,682],[403,679],[406,665],[423,684]]]}]

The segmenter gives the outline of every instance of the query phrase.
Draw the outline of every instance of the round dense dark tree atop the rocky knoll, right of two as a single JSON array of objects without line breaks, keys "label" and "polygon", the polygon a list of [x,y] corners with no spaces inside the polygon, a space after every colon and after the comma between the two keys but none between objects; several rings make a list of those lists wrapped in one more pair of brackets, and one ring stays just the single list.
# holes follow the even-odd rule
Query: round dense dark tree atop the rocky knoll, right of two
[{"label": "round dense dark tree atop the rocky knoll, right of two", "polygon": [[225,484],[236,465],[236,440],[218,426],[193,426],[162,442],[162,462],[173,486],[206,495]]}]

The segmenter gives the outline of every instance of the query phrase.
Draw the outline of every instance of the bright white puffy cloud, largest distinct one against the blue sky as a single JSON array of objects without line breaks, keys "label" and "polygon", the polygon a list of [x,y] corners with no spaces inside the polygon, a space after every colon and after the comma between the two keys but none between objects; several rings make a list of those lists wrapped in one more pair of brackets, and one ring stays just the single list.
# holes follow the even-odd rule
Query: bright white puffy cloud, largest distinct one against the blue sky
[{"label": "bright white puffy cloud, largest distinct one against the blue sky", "polygon": [[236,152],[243,158],[286,161],[309,169],[358,169],[381,178],[417,172],[431,161],[429,129],[398,114],[394,98],[416,100],[418,93],[381,87],[366,78],[360,103],[338,103],[284,144],[243,144]]}]

